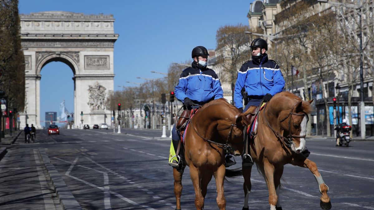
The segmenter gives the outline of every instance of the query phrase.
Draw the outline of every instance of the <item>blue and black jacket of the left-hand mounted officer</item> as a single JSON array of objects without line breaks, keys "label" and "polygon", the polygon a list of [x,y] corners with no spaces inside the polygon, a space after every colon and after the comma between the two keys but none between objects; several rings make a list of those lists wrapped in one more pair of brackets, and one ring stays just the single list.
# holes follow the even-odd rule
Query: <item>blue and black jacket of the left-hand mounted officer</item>
[{"label": "blue and black jacket of the left-hand mounted officer", "polygon": [[185,98],[199,104],[211,99],[223,98],[223,90],[217,74],[209,68],[200,70],[194,63],[192,67],[183,70],[174,92],[175,97],[183,103]]}]

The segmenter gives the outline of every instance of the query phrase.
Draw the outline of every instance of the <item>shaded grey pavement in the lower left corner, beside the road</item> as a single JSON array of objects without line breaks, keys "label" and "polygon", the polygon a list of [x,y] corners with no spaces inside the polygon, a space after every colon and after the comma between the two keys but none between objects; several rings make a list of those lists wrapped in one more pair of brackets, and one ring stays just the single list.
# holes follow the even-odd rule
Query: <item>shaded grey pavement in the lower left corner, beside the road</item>
[{"label": "shaded grey pavement in the lower left corner, beside the road", "polygon": [[82,209],[45,152],[24,144],[20,133],[1,139],[0,209]]}]

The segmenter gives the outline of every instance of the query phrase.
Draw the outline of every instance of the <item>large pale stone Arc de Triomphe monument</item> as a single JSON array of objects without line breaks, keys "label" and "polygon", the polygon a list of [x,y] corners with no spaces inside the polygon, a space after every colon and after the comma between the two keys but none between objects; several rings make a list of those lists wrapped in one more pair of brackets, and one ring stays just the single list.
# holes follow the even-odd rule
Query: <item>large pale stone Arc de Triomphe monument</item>
[{"label": "large pale stone Arc de Triomphe monument", "polygon": [[[74,122],[99,124],[110,122],[105,100],[113,91],[113,15],[84,15],[73,12],[38,12],[20,15],[21,40],[25,55],[25,112],[21,126],[40,124],[40,71],[52,61],[61,61],[73,71]],[[64,88],[56,78],[56,90]],[[45,96],[47,97],[47,96]],[[57,107],[56,107],[57,109]],[[43,117],[44,118],[44,117]]]}]

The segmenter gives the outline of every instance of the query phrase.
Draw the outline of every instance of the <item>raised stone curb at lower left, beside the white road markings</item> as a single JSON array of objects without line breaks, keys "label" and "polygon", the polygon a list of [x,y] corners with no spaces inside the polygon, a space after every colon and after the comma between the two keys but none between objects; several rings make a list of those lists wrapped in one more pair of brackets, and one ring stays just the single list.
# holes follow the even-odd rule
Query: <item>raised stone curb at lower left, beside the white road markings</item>
[{"label": "raised stone curb at lower left, beside the white road markings", "polygon": [[69,190],[68,186],[65,184],[62,177],[59,175],[55,166],[50,162],[50,159],[45,151],[40,151],[38,149],[40,156],[42,156],[43,163],[48,172],[48,176],[52,181],[52,185],[55,188],[58,200],[64,210],[82,210],[78,201],[74,198],[73,194]]}]

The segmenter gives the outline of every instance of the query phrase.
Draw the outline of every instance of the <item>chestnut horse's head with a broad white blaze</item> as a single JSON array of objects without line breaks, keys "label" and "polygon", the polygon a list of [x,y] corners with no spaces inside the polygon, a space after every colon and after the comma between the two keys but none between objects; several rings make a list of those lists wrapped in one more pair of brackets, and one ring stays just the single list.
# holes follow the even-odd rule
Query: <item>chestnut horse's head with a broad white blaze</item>
[{"label": "chestnut horse's head with a broad white blaze", "polygon": [[300,98],[288,102],[289,109],[283,110],[279,115],[283,137],[289,139],[292,151],[300,154],[306,149],[306,129],[311,101],[301,101]]}]

